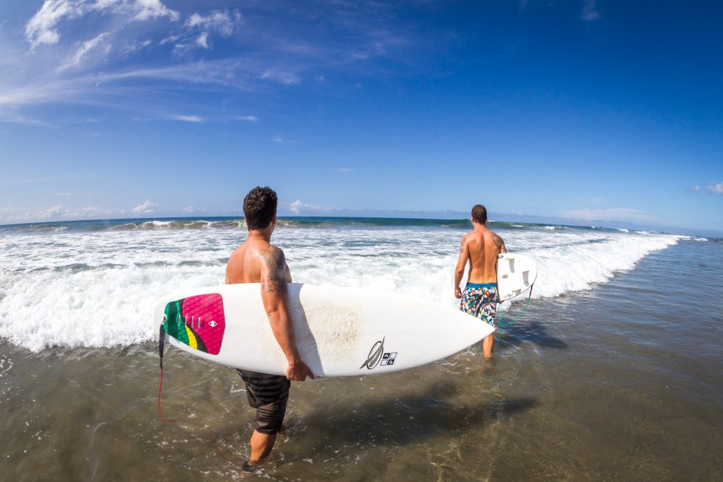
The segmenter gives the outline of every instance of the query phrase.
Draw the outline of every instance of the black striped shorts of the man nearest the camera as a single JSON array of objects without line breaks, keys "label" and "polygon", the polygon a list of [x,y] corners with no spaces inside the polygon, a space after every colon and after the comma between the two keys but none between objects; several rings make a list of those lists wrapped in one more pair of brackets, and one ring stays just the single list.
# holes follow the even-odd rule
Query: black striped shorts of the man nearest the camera
[{"label": "black striped shorts of the man nearest the camera", "polygon": [[272,435],[281,430],[291,380],[283,375],[237,369],[246,384],[249,405],[256,409],[256,431]]}]

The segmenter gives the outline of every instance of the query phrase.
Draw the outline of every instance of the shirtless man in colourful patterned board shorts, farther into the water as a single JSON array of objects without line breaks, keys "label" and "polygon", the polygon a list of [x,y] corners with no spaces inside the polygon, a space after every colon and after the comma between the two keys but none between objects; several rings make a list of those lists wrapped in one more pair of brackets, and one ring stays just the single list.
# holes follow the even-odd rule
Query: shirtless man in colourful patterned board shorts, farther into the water
[{"label": "shirtless man in colourful patterned board shorts, farther into the water", "polygon": [[[459,260],[454,273],[454,296],[462,298],[459,309],[474,317],[483,319],[493,328],[497,314],[497,254],[506,253],[505,241],[496,233],[492,233],[485,225],[487,209],[483,205],[472,208],[472,226],[474,229],[462,236],[459,245]],[[464,275],[464,268],[469,261],[469,278],[464,291],[459,283]],[[494,333],[482,340],[484,359],[492,358],[495,346]]]}]

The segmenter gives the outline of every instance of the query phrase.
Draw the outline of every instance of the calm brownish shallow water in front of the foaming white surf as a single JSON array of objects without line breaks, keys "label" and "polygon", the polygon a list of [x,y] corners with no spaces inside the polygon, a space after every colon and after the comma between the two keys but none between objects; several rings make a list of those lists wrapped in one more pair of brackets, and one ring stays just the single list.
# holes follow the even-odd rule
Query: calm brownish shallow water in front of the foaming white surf
[{"label": "calm brownish shallow water in front of the foaming white surf", "polygon": [[0,480],[721,480],[722,270],[723,244],[682,239],[589,291],[534,298],[492,362],[476,345],[411,371],[294,383],[256,474],[240,469],[253,412],[233,369],[168,350],[163,416],[177,421],[162,423],[155,343],[3,339]]}]

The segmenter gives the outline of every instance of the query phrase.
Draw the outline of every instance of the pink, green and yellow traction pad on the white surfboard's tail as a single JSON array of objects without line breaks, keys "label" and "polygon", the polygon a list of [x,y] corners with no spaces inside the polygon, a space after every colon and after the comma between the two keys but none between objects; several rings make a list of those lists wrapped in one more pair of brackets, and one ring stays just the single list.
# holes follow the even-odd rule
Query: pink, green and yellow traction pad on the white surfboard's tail
[{"label": "pink, green and yellow traction pad on the white surfboard's tail", "polygon": [[163,328],[169,336],[210,355],[218,355],[226,331],[219,293],[189,296],[166,304]]}]

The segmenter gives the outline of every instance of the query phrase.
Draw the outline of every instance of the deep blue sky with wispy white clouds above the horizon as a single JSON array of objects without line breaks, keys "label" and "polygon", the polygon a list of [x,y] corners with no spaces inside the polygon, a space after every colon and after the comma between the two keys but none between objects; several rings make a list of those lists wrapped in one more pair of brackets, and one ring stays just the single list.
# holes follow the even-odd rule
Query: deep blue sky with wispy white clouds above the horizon
[{"label": "deep blue sky with wispy white clouds above the horizon", "polygon": [[723,231],[719,2],[0,4],[0,223],[467,212]]}]

